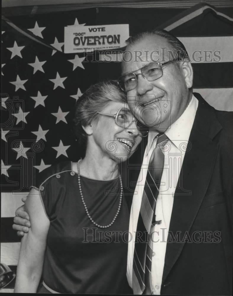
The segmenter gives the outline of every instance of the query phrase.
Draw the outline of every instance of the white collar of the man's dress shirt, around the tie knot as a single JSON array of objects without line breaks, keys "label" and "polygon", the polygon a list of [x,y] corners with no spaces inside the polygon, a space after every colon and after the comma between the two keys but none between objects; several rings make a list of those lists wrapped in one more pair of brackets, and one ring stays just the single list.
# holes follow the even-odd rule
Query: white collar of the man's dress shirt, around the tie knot
[{"label": "white collar of the man's dress shirt, around the tie knot", "polygon": [[[165,135],[168,139],[179,148],[180,141],[188,141],[189,135],[192,129],[194,118],[196,115],[198,106],[198,100],[192,95],[192,99],[189,102],[187,108],[181,114],[181,116],[172,123],[172,125],[165,131]],[[149,132],[148,142],[145,150],[145,155],[148,154],[155,137],[159,132]]]}]

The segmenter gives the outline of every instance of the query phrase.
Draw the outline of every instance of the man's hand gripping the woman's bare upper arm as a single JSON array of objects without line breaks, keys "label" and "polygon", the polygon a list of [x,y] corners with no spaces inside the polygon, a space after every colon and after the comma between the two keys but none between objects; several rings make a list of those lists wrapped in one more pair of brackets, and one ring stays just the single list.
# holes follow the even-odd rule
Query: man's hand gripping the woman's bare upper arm
[{"label": "man's hand gripping the woman's bare upper arm", "polygon": [[[23,197],[22,201],[25,202],[27,197]],[[24,233],[28,232],[31,227],[29,215],[24,210],[24,205],[15,211],[14,224],[12,228],[17,231],[19,237],[23,237]]]}]

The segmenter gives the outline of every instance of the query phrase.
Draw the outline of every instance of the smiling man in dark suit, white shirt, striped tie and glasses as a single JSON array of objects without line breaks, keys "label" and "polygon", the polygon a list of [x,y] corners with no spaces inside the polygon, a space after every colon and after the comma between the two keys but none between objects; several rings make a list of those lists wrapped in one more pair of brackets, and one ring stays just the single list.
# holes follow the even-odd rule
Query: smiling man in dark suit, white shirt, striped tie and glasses
[{"label": "smiling man in dark suit, white shirt, striped tie and glasses", "polygon": [[[129,38],[119,85],[149,127],[148,139],[127,163],[134,191],[127,277],[134,294],[231,295],[232,113],[193,94],[192,81],[176,37],[155,30]],[[156,147],[163,162],[155,161],[161,174],[150,186],[147,168]],[[147,187],[153,206],[144,200]]]}]

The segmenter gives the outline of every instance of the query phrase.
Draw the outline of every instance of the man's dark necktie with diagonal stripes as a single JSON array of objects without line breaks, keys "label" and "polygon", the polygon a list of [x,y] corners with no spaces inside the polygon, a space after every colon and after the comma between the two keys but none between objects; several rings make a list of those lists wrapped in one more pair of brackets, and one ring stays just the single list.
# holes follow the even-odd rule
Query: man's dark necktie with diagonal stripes
[{"label": "man's dark necktie with diagonal stripes", "polygon": [[149,238],[152,236],[155,224],[161,222],[155,221],[155,206],[164,165],[162,147],[168,141],[168,137],[164,133],[158,134],[157,137],[156,147],[152,152],[148,165],[135,237],[133,262],[134,294],[150,295],[153,293],[151,285],[153,242]]}]

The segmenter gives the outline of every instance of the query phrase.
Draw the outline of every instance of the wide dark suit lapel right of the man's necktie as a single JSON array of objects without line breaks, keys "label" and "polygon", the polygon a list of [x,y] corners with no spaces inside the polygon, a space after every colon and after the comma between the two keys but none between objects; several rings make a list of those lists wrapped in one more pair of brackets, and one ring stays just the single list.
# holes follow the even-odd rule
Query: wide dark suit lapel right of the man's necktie
[{"label": "wide dark suit lapel right of the man's necktie", "polygon": [[[180,232],[181,241],[189,232],[208,188],[218,147],[212,141],[221,130],[214,109],[198,94],[198,109],[189,137],[191,147],[184,156],[177,186],[169,235],[176,237]],[[168,242],[163,269],[163,281],[179,258],[185,242]]]}]

